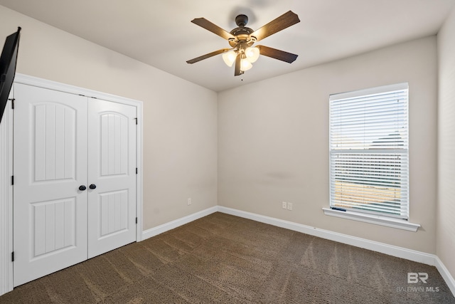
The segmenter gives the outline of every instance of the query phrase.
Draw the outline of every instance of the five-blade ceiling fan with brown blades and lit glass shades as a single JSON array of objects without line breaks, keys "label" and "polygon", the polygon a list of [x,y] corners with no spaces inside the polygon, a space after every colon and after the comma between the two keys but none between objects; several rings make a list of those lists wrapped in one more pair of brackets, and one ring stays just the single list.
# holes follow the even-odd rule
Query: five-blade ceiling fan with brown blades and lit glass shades
[{"label": "five-blade ceiling fan with brown blades and lit glass shades", "polygon": [[246,27],[248,17],[245,15],[238,15],[235,17],[235,23],[238,27],[234,28],[229,33],[205,18],[196,18],[191,20],[191,22],[217,34],[221,38],[225,38],[228,40],[231,48],[221,48],[218,51],[186,61],[187,63],[196,63],[198,61],[202,61],[203,59],[223,53],[223,60],[228,66],[232,66],[232,64],[235,63],[234,75],[237,76],[245,73],[245,70],[252,68],[252,63],[257,61],[259,54],[275,58],[280,61],[285,61],[287,63],[292,63],[297,58],[296,54],[280,51],[276,48],[269,48],[268,46],[252,47],[256,41],[262,40],[274,33],[284,30],[284,28],[288,28],[289,26],[299,23],[299,16],[292,11],[282,14],[282,16],[270,21],[256,31]]}]

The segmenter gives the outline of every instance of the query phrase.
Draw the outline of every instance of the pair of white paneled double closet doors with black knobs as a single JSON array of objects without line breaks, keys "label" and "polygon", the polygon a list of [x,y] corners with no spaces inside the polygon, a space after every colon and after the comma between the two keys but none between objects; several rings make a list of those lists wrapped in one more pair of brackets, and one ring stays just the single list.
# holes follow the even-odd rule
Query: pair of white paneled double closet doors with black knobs
[{"label": "pair of white paneled double closet doors with black knobs", "polygon": [[137,108],[14,84],[14,286],[136,240]]}]

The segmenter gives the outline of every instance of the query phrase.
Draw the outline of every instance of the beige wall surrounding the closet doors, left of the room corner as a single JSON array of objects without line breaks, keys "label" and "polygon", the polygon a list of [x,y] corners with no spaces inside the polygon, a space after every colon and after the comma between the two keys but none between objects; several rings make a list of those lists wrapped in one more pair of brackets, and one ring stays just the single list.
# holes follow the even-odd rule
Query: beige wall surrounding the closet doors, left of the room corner
[{"label": "beige wall surrounding the closet doors, left of the room corner", "polygon": [[[144,229],[217,204],[217,95],[0,6],[18,73],[144,102]],[[187,206],[187,198],[192,205]]]}]

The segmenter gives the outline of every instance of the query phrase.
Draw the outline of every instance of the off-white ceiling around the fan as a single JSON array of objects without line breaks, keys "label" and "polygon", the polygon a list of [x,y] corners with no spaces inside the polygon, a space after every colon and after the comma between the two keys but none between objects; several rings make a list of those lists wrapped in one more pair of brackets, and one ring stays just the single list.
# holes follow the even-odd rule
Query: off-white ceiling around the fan
[{"label": "off-white ceiling around the fan", "polygon": [[[220,91],[437,33],[455,0],[0,0],[0,5],[105,46],[205,88]],[[287,11],[300,23],[260,44],[296,53],[294,63],[260,56],[234,76],[221,55],[187,60],[228,41],[190,21],[226,31],[246,14],[256,30]],[[26,28],[23,28],[26,31]]]}]

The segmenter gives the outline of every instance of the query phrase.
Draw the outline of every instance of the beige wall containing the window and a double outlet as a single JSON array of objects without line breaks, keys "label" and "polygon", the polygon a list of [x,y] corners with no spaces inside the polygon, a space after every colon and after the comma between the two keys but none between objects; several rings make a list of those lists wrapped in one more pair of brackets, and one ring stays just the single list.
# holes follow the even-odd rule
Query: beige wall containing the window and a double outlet
[{"label": "beige wall containing the window and a double outlet", "polygon": [[[402,82],[410,84],[410,221],[422,229],[325,216],[328,96]],[[431,36],[219,93],[218,204],[435,253],[436,146],[437,43]],[[294,210],[282,209],[282,201]]]}]

